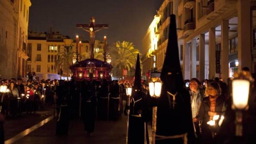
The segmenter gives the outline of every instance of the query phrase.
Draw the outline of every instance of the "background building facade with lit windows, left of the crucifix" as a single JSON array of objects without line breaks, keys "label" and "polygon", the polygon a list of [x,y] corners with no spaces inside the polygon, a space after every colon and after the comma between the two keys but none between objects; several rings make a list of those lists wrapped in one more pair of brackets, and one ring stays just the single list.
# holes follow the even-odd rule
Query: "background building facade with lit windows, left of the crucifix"
[{"label": "background building facade with lit windows, left of the crucifix", "polygon": [[[60,68],[55,64],[60,56],[60,52],[64,49],[71,49],[76,52],[76,40],[70,39],[68,36],[63,36],[59,32],[37,33],[29,32],[28,36],[28,63],[27,72],[35,72],[39,79],[60,79]],[[81,40],[81,38],[79,39]],[[81,57],[82,59],[89,58],[89,41],[81,40]],[[95,51],[103,49],[104,42],[96,40]],[[103,56],[103,55],[102,55]],[[73,63],[76,55],[73,56]],[[70,77],[69,72],[64,70],[62,79]]]}]

